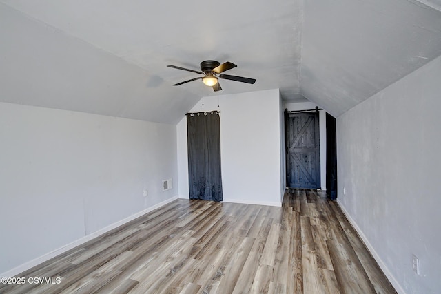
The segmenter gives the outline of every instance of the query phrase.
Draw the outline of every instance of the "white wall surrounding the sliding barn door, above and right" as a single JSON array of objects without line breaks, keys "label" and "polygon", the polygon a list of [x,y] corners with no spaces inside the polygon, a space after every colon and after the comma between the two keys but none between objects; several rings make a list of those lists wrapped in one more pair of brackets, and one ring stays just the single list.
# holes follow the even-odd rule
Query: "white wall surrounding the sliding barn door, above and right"
[{"label": "white wall surrounding the sliding barn door, above and right", "polygon": [[[285,103],[283,109],[288,111],[316,109],[320,106],[312,102],[292,102]],[[326,112],[325,110],[318,111],[318,120],[320,125],[320,187],[326,190]],[[285,163],[286,165],[286,163]]]}]

